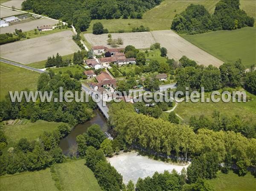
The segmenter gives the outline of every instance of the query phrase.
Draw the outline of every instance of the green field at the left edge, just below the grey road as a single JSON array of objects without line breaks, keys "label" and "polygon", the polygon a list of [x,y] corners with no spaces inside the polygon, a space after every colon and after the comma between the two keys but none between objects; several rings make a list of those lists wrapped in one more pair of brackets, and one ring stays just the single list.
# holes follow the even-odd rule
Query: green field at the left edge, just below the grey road
[{"label": "green field at the left edge, just below the grey road", "polygon": [[37,89],[39,73],[19,68],[6,63],[0,63],[0,100],[5,99],[9,91],[21,91],[28,88]]}]

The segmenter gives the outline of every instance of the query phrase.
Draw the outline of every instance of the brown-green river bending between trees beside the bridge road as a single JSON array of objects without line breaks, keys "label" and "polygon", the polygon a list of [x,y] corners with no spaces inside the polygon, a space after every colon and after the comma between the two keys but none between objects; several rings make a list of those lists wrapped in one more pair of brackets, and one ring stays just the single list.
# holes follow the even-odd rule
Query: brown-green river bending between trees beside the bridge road
[{"label": "brown-green river bending between trees beside the bridge road", "polygon": [[77,125],[70,134],[65,137],[64,139],[61,139],[59,143],[59,147],[62,149],[63,154],[67,155],[74,155],[76,153],[77,149],[77,143],[76,143],[76,136],[79,134],[83,134],[87,131],[87,128],[90,127],[93,124],[98,124],[103,132],[108,131],[109,126],[106,121],[106,119],[103,117],[101,112],[96,109],[93,111],[95,114],[95,117],[93,117],[91,120]]}]

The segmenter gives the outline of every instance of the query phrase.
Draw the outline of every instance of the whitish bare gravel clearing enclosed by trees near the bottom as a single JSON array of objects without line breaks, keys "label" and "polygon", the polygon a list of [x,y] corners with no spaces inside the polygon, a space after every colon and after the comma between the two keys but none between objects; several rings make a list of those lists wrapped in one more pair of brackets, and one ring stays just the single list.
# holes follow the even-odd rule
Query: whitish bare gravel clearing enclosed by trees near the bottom
[{"label": "whitish bare gravel clearing enclosed by trees near the bottom", "polygon": [[122,174],[123,182],[125,184],[127,184],[129,180],[136,183],[139,177],[152,177],[155,171],[163,173],[165,170],[171,172],[175,169],[180,173],[182,168],[187,168],[189,166],[171,165],[166,162],[152,160],[148,157],[138,155],[137,152],[129,152],[114,156],[109,158],[108,162],[110,162],[110,164],[115,167],[120,174]]}]

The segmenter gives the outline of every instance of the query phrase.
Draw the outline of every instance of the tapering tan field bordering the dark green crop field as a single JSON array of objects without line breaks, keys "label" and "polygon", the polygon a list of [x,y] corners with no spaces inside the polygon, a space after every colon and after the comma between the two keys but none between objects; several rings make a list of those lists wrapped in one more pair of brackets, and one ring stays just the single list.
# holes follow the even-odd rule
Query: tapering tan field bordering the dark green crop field
[{"label": "tapering tan field bordering the dark green crop field", "polygon": [[183,55],[195,60],[199,65],[221,66],[223,62],[197,46],[189,43],[172,30],[151,31],[154,39],[167,48],[167,56],[179,60]]}]

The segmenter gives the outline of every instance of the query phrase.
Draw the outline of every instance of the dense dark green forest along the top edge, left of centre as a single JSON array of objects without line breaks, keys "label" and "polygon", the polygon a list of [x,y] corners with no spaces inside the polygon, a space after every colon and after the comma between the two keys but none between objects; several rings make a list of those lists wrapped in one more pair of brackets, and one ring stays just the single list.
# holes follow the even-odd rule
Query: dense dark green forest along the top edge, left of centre
[{"label": "dense dark green forest along the top edge, left of centre", "polygon": [[142,18],[145,11],[160,3],[161,0],[26,0],[22,3],[22,9],[61,19],[85,31],[92,19]]}]

